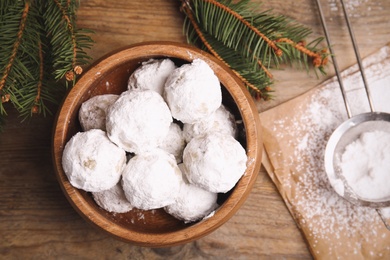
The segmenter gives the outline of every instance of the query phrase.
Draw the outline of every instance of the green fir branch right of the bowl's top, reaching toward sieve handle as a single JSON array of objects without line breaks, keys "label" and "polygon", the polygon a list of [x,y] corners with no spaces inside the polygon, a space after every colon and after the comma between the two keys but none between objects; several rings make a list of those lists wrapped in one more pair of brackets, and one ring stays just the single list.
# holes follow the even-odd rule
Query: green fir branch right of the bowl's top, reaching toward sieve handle
[{"label": "green fir branch right of the bowl's top, reaching toward sieve handle", "polygon": [[[257,97],[269,99],[270,68],[309,63],[320,72],[327,52],[305,45],[311,31],[269,10],[258,12],[249,0],[181,0],[187,41],[212,53],[238,74]],[[319,41],[317,41],[318,43]]]}]

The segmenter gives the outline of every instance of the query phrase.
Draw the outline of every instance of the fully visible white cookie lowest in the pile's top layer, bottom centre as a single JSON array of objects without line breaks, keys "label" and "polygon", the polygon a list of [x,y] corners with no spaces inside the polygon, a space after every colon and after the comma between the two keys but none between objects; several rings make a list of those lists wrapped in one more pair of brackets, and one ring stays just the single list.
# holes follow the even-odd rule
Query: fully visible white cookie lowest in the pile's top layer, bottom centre
[{"label": "fully visible white cookie lowest in the pile's top layer, bottom centre", "polygon": [[157,209],[174,203],[182,183],[174,156],[158,148],[134,156],[123,170],[125,196],[138,209]]}]

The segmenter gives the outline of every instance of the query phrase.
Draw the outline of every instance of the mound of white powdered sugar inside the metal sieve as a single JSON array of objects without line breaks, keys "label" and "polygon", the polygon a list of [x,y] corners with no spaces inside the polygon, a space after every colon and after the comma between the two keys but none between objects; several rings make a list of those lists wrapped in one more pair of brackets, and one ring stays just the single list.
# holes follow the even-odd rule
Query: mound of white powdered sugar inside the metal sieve
[{"label": "mound of white powdered sugar inside the metal sieve", "polygon": [[390,197],[390,133],[365,132],[341,156],[343,175],[356,195],[366,200]]}]

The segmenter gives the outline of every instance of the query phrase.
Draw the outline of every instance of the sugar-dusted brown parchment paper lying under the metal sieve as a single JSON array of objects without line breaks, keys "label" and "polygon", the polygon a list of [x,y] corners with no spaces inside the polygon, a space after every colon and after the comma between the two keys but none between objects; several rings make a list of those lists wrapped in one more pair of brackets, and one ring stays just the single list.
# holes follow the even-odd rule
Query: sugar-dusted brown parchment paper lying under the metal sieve
[{"label": "sugar-dusted brown parchment paper lying under the metal sieve", "polygon": [[[390,113],[390,48],[364,60],[377,111]],[[368,112],[357,66],[342,73],[352,114]],[[317,259],[390,259],[390,231],[377,211],[340,197],[324,169],[328,138],[347,119],[336,78],[260,113],[263,160]],[[390,184],[389,184],[390,189]]]}]

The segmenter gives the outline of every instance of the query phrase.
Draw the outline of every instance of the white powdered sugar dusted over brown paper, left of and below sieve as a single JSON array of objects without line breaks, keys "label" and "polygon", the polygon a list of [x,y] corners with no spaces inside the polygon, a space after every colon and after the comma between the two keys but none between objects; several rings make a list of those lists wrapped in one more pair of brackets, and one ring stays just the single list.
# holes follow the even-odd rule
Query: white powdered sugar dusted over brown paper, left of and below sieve
[{"label": "white powdered sugar dusted over brown paper, left of and below sieve", "polygon": [[[289,115],[273,122],[272,135],[283,140],[285,146],[283,151],[275,151],[270,157],[277,158],[287,169],[278,173],[278,180],[283,189],[290,191],[288,205],[311,241],[313,253],[344,258],[352,257],[351,252],[361,254],[364,244],[379,244],[387,234],[377,238],[383,228],[377,212],[354,206],[338,196],[325,172],[327,140],[347,119],[341,93],[334,83],[317,89],[308,103],[295,108],[293,117]],[[361,240],[349,239],[361,232],[366,232]],[[323,241],[329,245],[326,252],[321,251]],[[390,246],[385,250],[390,251]],[[372,252],[375,256],[382,253]]]}]

